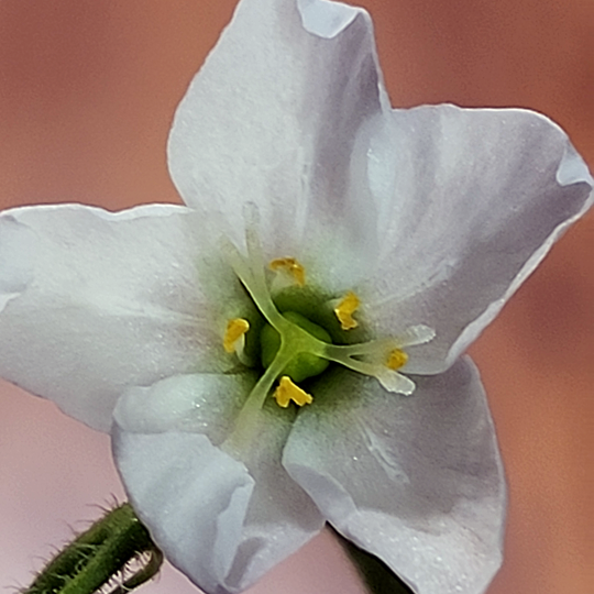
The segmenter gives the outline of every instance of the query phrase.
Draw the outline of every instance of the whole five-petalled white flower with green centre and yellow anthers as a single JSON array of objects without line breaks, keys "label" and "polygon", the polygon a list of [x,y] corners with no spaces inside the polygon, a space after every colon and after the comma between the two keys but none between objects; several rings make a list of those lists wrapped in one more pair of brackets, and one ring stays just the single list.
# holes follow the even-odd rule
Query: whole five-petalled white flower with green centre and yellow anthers
[{"label": "whole five-petalled white flower with green centre and yellow anthers", "polygon": [[[392,110],[366,12],[242,0],[169,164],[189,208],[2,213],[0,374],[112,432],[138,514],[210,594],[326,520],[421,594],[483,592],[505,483],[460,355],[593,201],[564,133],[525,110]],[[288,345],[267,371],[265,318]],[[345,365],[278,392],[301,340]]]}]

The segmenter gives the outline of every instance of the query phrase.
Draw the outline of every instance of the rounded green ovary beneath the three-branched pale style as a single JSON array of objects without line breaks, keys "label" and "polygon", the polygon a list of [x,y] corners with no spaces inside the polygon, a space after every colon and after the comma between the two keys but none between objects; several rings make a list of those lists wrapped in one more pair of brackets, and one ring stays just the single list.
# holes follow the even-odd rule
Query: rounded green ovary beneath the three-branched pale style
[{"label": "rounded green ovary beneath the three-branched pale style", "polygon": [[[332,342],[330,334],[323,328],[308,320],[300,314],[285,311],[283,316],[314,338],[328,343]],[[267,369],[280,349],[280,334],[270,324],[264,326],[260,333],[260,349],[262,365]],[[299,352],[296,349],[295,355],[290,359],[282,373],[283,375],[288,375],[295,383],[299,383],[308,377],[320,375],[326,371],[329,362],[326,359],[311,353]]]}]

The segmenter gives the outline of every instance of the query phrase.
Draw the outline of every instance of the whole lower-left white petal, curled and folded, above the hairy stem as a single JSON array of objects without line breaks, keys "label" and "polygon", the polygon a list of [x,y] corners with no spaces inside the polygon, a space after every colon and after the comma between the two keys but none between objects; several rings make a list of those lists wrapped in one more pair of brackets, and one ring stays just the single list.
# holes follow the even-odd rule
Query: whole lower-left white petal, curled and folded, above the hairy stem
[{"label": "whole lower-left white petal, curled and folded, above the hairy stem", "polygon": [[223,440],[244,382],[170,377],[129,391],[114,413],[114,459],[134,509],[167,559],[209,594],[243,592],[323,526],[280,465],[290,415],[263,411],[241,461],[229,453]]}]

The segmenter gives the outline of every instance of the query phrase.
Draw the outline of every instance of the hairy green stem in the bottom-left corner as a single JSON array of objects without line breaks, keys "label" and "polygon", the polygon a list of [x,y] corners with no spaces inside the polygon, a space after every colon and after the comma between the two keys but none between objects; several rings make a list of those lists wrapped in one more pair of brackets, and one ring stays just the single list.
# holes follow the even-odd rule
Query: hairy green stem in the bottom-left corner
[{"label": "hairy green stem in the bottom-left corner", "polygon": [[123,504],[96,521],[61,551],[23,594],[92,594],[121,576],[139,556],[148,559],[111,594],[123,593],[158,572],[163,553],[130,504]]}]

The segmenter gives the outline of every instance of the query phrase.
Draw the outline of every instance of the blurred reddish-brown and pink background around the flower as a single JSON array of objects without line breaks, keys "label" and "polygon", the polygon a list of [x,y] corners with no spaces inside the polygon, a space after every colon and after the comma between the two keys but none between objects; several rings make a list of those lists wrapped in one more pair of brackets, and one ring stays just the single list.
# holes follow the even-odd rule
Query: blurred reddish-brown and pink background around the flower
[{"label": "blurred reddish-brown and pink background around the flower", "polygon": [[[367,0],[392,102],[547,113],[594,166],[592,0]],[[235,0],[0,0],[0,204],[177,201],[174,109]],[[506,462],[488,594],[586,594],[593,566],[594,215],[473,346]],[[109,439],[0,384],[0,592],[123,498]],[[590,580],[588,580],[590,576]],[[146,594],[196,592],[175,570]],[[328,535],[254,594],[356,594]]]}]

